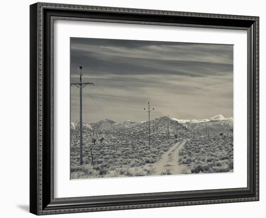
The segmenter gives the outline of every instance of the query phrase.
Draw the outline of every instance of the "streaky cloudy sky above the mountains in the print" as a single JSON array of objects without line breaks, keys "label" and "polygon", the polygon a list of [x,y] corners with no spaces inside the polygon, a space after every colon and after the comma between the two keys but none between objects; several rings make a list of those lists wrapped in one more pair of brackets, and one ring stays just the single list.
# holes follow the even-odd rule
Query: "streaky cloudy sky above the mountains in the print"
[{"label": "streaky cloudy sky above the mountains in the print", "polygon": [[[83,66],[83,121],[145,121],[168,115],[233,116],[233,46],[71,38],[71,81]],[[79,89],[71,88],[71,120],[79,121]]]}]

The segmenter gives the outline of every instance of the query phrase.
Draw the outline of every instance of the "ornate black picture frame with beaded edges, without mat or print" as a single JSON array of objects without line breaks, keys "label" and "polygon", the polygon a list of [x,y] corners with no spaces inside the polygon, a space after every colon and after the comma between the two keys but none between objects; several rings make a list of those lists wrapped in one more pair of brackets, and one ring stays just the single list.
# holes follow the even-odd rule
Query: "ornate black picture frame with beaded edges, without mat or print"
[{"label": "ornate black picture frame with beaded edges, without mat or print", "polygon": [[[248,32],[248,186],[54,198],[54,20],[168,25]],[[259,17],[35,3],[30,5],[30,212],[36,215],[259,201]]]}]

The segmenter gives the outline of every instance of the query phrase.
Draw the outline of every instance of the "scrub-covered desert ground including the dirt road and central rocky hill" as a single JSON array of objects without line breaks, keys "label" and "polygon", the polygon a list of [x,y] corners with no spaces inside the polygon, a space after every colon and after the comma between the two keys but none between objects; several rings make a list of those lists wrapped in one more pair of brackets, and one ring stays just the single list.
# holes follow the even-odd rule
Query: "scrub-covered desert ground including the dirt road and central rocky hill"
[{"label": "scrub-covered desert ground including the dirt road and central rocky hill", "polygon": [[71,132],[71,179],[233,171],[232,135],[203,135],[162,117],[151,122],[149,145],[148,122],[116,130],[95,126],[83,128],[83,165],[78,128]]}]

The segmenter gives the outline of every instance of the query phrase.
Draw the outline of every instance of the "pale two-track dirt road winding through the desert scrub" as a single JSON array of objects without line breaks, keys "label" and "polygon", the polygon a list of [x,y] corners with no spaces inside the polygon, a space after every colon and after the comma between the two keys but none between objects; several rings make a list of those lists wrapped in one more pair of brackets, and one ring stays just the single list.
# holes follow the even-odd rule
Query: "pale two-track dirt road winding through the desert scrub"
[{"label": "pale two-track dirt road winding through the desert scrub", "polygon": [[179,150],[185,145],[187,140],[174,144],[156,163],[152,164],[152,175],[176,175],[183,174],[185,166],[178,164]]}]

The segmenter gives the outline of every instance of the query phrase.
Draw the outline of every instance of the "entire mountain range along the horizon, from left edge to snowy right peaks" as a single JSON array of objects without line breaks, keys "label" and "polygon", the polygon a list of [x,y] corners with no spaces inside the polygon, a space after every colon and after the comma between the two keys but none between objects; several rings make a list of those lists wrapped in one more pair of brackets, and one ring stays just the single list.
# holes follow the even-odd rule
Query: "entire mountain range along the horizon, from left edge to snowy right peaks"
[{"label": "entire mountain range along the horizon, from left edge to snowy right peaks", "polygon": [[[167,124],[167,119],[168,118],[164,116],[150,121],[151,130],[157,133],[159,130],[163,132],[167,131],[167,126],[165,126]],[[211,135],[219,134],[221,132],[229,134],[232,133],[233,118],[225,118],[222,114],[220,114],[209,119],[200,120],[169,119],[169,131],[173,132],[173,134],[177,132],[178,125],[180,129],[188,128],[190,131],[195,131],[200,134],[206,134],[206,132]],[[128,129],[133,132],[135,132],[134,130],[138,132],[142,130],[144,131],[143,128],[145,128],[145,130],[148,128],[148,121],[133,122],[127,120],[123,123],[116,123],[115,121],[105,119],[93,124],[83,124],[83,128],[86,130],[93,130],[95,132],[122,132],[127,131]],[[79,129],[79,124],[72,122],[71,129]]]}]

